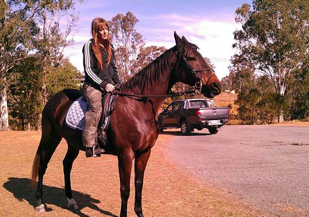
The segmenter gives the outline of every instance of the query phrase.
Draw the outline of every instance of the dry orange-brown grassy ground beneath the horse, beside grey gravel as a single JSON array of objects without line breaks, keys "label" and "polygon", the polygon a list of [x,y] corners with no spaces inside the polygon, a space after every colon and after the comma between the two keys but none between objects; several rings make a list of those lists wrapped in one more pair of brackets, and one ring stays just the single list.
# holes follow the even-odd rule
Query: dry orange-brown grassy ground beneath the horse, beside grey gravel
[{"label": "dry orange-brown grassy ground beneath the horse, beside grey gravel", "polygon": [[[159,135],[145,172],[145,217],[262,217],[222,189],[205,186],[169,162],[164,149],[171,135]],[[62,159],[64,140],[53,155],[43,180],[45,213],[36,213],[35,193],[28,187],[40,132],[0,132],[0,217],[117,217],[120,213],[119,178],[115,156],[85,158],[73,165],[71,182],[79,211],[67,209]],[[128,216],[134,213],[134,171]]]}]

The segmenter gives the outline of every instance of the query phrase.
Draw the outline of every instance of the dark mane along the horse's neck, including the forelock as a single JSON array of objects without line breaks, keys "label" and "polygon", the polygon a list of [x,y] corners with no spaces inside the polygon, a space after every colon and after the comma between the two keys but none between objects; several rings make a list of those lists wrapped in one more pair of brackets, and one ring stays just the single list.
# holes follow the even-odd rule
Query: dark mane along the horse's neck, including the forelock
[{"label": "dark mane along the horse's neck, including the forelock", "polygon": [[[183,48],[184,55],[189,55],[193,48],[197,48],[197,46],[190,42],[185,43]],[[149,63],[145,68],[137,72],[131,79],[122,83],[120,85],[120,89],[131,90],[135,94],[143,93],[144,90],[153,85],[153,82],[165,75],[165,71],[170,64],[171,53],[175,50],[176,46],[165,51],[158,58]]]}]

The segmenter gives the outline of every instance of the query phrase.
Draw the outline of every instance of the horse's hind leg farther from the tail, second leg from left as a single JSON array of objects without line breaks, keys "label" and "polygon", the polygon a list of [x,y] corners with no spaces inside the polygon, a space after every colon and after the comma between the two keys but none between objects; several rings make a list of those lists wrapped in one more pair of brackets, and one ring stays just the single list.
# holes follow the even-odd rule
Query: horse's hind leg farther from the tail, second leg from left
[{"label": "horse's hind leg farther from the tail, second leg from left", "polygon": [[73,161],[77,158],[78,153],[79,153],[79,150],[74,148],[72,145],[68,143],[68,151],[62,161],[63,173],[64,173],[65,196],[68,199],[68,207],[73,207],[74,210],[77,210],[78,206],[72,197],[71,170],[72,170]]}]

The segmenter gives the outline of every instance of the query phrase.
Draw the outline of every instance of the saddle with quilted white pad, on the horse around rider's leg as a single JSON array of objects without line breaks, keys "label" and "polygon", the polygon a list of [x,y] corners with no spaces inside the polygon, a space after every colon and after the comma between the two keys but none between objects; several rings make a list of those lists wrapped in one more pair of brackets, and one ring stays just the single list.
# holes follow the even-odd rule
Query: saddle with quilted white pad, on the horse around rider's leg
[{"label": "saddle with quilted white pad, on the horse around rider's leg", "polygon": [[[100,145],[105,146],[107,138],[105,130],[108,128],[110,117],[115,109],[116,94],[102,93],[102,116],[99,120],[97,138]],[[68,109],[65,122],[72,129],[83,131],[85,127],[85,113],[88,110],[88,103],[82,96],[76,99]]]}]

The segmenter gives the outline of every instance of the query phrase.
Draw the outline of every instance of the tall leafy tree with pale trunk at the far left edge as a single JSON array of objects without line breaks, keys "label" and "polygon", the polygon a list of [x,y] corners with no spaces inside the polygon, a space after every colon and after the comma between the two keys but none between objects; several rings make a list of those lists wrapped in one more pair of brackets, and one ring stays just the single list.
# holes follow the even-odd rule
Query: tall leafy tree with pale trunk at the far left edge
[{"label": "tall leafy tree with pale trunk at the far left edge", "polygon": [[[20,2],[21,3],[21,2]],[[25,58],[33,48],[33,37],[39,32],[33,18],[39,8],[32,10],[17,7],[12,10],[14,1],[0,1],[0,130],[7,131],[7,72]],[[26,4],[25,4],[26,5]]]}]

